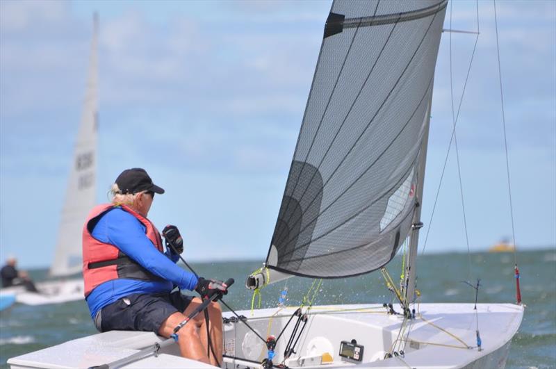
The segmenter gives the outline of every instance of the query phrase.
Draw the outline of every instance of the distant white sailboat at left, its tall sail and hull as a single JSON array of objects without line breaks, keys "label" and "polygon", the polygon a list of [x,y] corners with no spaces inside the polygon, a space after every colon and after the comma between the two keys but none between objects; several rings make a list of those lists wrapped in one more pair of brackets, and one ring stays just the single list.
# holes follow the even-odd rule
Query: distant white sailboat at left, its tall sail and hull
[{"label": "distant white sailboat at left, its tall sail and hull", "polygon": [[23,304],[53,304],[83,299],[83,279],[67,277],[81,273],[81,231],[88,212],[95,205],[97,190],[97,15],[93,24],[83,113],[67,180],[54,260],[49,269],[49,275],[58,279],[38,283],[40,293],[17,293],[17,302]]}]

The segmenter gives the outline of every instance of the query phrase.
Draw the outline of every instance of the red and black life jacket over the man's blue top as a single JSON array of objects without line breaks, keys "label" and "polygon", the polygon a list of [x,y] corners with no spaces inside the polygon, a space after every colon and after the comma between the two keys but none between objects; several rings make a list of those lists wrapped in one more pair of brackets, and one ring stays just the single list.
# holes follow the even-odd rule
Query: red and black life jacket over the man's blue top
[{"label": "red and black life jacket over the man's blue top", "polygon": [[[113,208],[113,204],[95,206],[83,227],[83,281],[85,281],[85,297],[99,284],[117,278],[163,281],[163,279],[143,268],[139,263],[129,258],[129,256],[126,256],[114,245],[104,243],[92,236],[92,230],[95,229],[97,222]],[[161,234],[154,227],[154,224],[129,206],[122,205],[121,208],[133,215],[145,226],[145,233],[147,238],[151,240],[153,247],[156,247],[159,252],[164,252]]]}]

